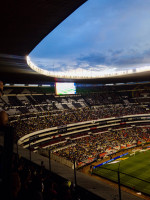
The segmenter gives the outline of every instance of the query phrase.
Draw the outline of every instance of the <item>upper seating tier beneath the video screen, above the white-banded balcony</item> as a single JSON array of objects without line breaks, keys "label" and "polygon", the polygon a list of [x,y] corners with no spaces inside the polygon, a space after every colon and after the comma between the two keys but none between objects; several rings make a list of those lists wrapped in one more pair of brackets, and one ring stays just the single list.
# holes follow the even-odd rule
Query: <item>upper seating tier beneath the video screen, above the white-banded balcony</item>
[{"label": "upper seating tier beneath the video screen, above the white-banded balcony", "polygon": [[76,95],[56,96],[54,86],[7,86],[1,105],[16,127],[17,138],[78,122],[150,113],[149,84],[83,88],[77,86]]}]

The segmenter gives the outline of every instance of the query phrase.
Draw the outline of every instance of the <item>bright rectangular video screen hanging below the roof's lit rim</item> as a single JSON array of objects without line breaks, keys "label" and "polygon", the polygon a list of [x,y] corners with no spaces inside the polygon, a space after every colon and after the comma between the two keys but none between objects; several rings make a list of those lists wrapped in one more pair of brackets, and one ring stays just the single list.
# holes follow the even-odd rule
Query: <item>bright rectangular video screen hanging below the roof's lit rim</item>
[{"label": "bright rectangular video screen hanging below the roof's lit rim", "polygon": [[55,83],[56,95],[76,94],[75,83]]}]

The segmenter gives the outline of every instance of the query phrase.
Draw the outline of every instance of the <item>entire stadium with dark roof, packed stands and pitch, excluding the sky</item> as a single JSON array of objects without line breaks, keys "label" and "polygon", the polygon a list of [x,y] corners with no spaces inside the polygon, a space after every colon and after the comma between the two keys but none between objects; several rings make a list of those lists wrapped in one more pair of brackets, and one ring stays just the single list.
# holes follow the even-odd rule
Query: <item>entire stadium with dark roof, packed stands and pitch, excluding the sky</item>
[{"label": "entire stadium with dark roof, packed stands and pitch, excluding the sky", "polygon": [[86,3],[2,3],[0,111],[9,119],[3,124],[0,116],[4,199],[150,199],[150,68],[50,72],[29,56]]}]

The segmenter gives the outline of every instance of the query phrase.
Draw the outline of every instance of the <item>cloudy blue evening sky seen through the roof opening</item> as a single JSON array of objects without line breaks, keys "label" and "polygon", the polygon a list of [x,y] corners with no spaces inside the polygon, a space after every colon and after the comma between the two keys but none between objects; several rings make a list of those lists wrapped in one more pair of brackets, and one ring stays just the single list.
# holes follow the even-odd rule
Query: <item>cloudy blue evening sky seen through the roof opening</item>
[{"label": "cloudy blue evening sky seen through the roof opening", "polygon": [[88,0],[29,55],[50,71],[150,66],[150,0]]}]

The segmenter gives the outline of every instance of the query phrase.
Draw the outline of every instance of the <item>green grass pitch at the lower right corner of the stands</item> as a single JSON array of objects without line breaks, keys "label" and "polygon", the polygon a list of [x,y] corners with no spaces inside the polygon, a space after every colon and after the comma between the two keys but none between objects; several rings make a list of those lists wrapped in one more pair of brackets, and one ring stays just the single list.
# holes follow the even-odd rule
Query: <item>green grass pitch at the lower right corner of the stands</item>
[{"label": "green grass pitch at the lower right corner of the stands", "polygon": [[135,156],[128,154],[120,162],[102,165],[93,173],[118,182],[119,163],[121,184],[150,195],[150,150],[137,152]]}]

